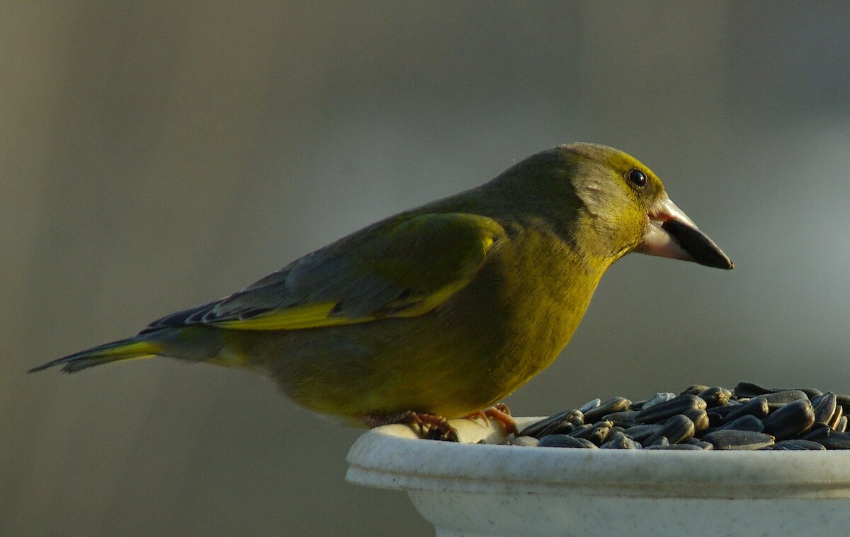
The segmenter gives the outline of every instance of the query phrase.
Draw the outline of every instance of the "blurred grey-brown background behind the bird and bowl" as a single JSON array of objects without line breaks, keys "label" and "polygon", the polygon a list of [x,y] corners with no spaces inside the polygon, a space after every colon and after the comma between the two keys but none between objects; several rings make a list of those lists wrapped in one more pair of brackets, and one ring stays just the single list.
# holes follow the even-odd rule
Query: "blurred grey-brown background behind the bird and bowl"
[{"label": "blurred grey-brown background behind the bird and bowl", "polygon": [[33,365],[222,297],[554,144],[636,155],[733,258],[629,256],[544,415],[850,393],[850,3],[0,2],[0,534],[428,535],[272,382]]}]

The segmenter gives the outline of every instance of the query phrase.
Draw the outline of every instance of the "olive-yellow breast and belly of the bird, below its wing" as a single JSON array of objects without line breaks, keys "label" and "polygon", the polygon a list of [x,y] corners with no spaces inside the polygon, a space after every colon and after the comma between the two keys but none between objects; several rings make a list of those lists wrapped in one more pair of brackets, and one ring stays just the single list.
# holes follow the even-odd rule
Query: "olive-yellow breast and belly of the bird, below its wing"
[{"label": "olive-yellow breast and belly of the bird, below its wing", "polygon": [[598,278],[570,281],[531,287],[493,265],[427,314],[269,332],[246,344],[310,410],[456,417],[496,403],[557,357]]}]

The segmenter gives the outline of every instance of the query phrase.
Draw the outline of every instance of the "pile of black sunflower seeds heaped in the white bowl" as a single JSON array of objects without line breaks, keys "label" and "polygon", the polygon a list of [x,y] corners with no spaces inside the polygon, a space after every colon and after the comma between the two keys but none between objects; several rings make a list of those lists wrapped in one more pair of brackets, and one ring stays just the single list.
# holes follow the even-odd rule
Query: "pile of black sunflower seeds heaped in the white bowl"
[{"label": "pile of black sunflower seeds heaped in the white bowl", "polygon": [[810,387],[694,385],[644,401],[593,399],[538,421],[511,443],[607,449],[850,449],[850,396]]}]

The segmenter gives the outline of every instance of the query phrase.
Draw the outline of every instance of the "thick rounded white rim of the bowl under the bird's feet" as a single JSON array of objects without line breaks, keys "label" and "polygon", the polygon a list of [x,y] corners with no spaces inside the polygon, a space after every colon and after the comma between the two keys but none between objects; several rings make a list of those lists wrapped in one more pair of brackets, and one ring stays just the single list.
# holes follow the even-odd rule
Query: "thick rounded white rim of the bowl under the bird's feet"
[{"label": "thick rounded white rim of the bowl under the bird's feet", "polygon": [[[517,418],[522,427],[540,420]],[[348,481],[391,489],[689,498],[850,497],[848,451],[564,449],[497,445],[501,425],[453,420],[461,443],[416,438],[393,425],[348,452]],[[484,441],[484,444],[477,444]]]}]

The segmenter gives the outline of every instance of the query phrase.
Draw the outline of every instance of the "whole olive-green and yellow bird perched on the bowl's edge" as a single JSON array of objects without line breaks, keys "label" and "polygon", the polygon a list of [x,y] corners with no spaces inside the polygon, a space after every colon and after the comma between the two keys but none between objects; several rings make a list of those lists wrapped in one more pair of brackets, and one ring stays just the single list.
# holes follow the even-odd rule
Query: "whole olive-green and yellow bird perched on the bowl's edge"
[{"label": "whole olive-green and yellow bird perched on the bowl's edge", "polygon": [[269,376],[320,415],[457,440],[450,418],[485,411],[508,424],[498,402],[561,353],[605,270],[630,252],[734,267],[643,163],[605,145],[558,145],[228,297],[31,371],[207,362]]}]

